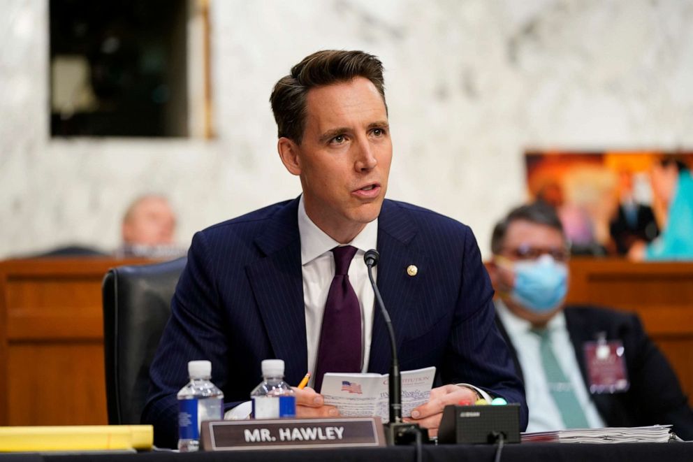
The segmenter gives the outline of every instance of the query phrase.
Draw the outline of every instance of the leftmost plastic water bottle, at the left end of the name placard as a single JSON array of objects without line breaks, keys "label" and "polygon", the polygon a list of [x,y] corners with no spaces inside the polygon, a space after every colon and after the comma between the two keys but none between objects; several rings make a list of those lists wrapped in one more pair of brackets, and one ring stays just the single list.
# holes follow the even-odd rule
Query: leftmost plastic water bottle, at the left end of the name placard
[{"label": "leftmost plastic water bottle, at the left end of the name placard", "polygon": [[178,450],[194,452],[200,448],[200,424],[224,419],[224,394],[210,379],[210,361],[188,363],[190,382],[178,392]]}]

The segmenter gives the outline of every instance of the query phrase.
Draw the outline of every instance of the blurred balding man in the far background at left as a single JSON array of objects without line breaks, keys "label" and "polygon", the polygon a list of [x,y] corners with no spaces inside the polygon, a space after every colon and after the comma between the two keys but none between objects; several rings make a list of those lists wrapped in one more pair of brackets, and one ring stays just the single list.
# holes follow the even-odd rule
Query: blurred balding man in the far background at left
[{"label": "blurred balding man in the far background at left", "polygon": [[125,212],[119,257],[178,257],[176,219],[168,199],[158,194],[136,198]]}]

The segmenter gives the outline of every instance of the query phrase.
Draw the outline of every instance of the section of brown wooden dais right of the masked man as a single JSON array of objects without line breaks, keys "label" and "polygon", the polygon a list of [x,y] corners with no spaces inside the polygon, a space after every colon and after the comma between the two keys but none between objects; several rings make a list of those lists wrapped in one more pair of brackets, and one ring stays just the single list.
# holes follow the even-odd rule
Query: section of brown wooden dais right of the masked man
[{"label": "section of brown wooden dais right of the masked man", "polygon": [[693,262],[572,259],[568,303],[638,313],[693,405]]}]

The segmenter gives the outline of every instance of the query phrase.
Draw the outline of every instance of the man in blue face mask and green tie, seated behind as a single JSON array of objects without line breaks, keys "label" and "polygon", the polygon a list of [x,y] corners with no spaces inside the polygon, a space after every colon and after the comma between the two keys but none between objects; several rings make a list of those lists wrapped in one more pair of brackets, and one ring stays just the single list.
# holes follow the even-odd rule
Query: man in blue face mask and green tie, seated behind
[{"label": "man in blue face mask and green tie, seated behind", "polygon": [[527,431],[672,424],[693,439],[693,411],[639,318],[564,305],[569,251],[553,208],[511,210],[491,250],[496,321],[525,382]]}]

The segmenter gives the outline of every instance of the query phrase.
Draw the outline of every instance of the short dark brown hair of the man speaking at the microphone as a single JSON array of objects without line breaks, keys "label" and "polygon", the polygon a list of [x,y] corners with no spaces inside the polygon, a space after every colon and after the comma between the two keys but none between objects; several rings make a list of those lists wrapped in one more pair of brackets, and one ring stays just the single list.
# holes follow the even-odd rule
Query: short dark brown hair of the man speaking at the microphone
[{"label": "short dark brown hair of the man speaking at the microphone", "polygon": [[377,57],[363,51],[322,50],[303,58],[272,89],[270,103],[277,122],[277,136],[300,145],[309,90],[349,82],[356,77],[367,78],[375,85],[387,110],[383,64]]}]

